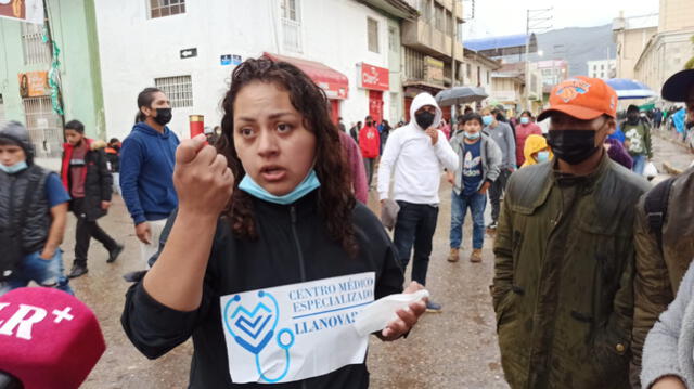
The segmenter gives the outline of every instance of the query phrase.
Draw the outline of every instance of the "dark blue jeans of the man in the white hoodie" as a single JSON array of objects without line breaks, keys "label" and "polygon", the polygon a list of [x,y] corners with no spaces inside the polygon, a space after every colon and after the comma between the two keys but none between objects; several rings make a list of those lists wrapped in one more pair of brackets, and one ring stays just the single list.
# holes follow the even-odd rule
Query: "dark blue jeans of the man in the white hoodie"
[{"label": "dark blue jeans of the man in the white hoodie", "polygon": [[393,241],[402,271],[408,268],[414,246],[412,281],[426,285],[426,272],[432,255],[432,239],[436,231],[438,207],[428,204],[412,204],[398,200],[400,211],[395,223]]}]

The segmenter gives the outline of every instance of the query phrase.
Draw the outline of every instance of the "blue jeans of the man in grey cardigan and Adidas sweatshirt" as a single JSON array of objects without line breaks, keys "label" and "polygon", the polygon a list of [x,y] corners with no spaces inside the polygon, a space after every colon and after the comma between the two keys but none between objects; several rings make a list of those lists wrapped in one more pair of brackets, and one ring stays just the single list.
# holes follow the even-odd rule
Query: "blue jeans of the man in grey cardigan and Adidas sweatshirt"
[{"label": "blue jeans of the man in grey cardigan and Adidas sweatshirt", "polygon": [[473,248],[481,248],[485,243],[485,208],[487,195],[477,192],[465,196],[452,191],[451,198],[451,248],[460,248],[463,241],[463,223],[467,208],[473,218]]}]

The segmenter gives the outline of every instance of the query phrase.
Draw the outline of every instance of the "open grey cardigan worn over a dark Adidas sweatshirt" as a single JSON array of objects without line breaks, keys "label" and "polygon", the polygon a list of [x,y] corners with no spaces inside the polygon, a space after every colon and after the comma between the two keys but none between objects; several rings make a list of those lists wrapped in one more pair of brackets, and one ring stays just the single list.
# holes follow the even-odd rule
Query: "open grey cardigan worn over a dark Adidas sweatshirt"
[{"label": "open grey cardigan worn over a dark Adidas sweatshirt", "polygon": [[[463,180],[460,172],[463,170],[463,164],[465,163],[465,135],[463,131],[459,131],[455,135],[451,137],[451,147],[455,154],[458,154],[458,168],[454,171],[455,176],[455,184],[453,184],[453,191],[455,194],[460,195],[463,190]],[[483,180],[479,182],[479,186],[477,186],[477,191],[481,189],[481,185],[485,184],[485,181],[494,182],[499,177],[499,172],[501,170],[501,148],[497,145],[491,138],[487,137],[484,132],[481,132],[481,147],[479,147],[479,153],[481,157],[481,177]]]}]

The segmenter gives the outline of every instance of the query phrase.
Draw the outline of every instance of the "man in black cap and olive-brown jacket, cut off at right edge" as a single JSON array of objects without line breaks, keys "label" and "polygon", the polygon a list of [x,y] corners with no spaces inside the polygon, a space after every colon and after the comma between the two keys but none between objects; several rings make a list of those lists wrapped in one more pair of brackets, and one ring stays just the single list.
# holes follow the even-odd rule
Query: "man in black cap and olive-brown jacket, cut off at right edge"
[{"label": "man in black cap and olive-brown jacket, cut off at right edge", "polygon": [[[686,104],[687,127],[694,126],[694,69],[682,70],[663,85],[663,99]],[[660,313],[677,295],[680,282],[694,258],[694,168],[690,168],[668,185],[666,198],[655,194],[641,197],[637,206],[634,239],[637,245],[637,276],[634,278],[633,361],[632,384],[639,387],[641,349]],[[654,189],[653,192],[657,190]],[[646,215],[646,198],[653,198],[659,209]],[[665,204],[663,204],[665,203]],[[654,231],[650,220],[660,219],[659,231]],[[657,219],[656,219],[657,220]],[[658,236],[661,244],[658,243]]]}]

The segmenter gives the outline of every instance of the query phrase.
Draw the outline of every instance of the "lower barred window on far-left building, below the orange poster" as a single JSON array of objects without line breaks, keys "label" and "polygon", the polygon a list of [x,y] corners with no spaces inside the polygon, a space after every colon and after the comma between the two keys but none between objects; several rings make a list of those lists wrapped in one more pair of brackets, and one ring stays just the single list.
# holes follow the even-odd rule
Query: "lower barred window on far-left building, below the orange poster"
[{"label": "lower barred window on far-left building, below the orange poster", "polygon": [[51,96],[22,99],[26,128],[39,158],[60,158],[63,145],[61,117],[53,112]]}]

